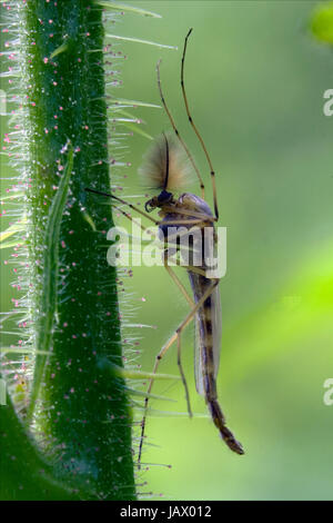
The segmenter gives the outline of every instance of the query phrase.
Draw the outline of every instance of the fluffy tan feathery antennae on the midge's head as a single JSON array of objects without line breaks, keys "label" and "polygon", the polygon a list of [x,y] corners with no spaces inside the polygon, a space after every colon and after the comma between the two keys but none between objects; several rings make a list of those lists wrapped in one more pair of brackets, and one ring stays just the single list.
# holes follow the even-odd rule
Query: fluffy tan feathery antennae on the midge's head
[{"label": "fluffy tan feathery antennae on the midge's head", "polygon": [[191,184],[193,169],[176,136],[168,131],[148,149],[139,175],[145,187],[172,191]]}]

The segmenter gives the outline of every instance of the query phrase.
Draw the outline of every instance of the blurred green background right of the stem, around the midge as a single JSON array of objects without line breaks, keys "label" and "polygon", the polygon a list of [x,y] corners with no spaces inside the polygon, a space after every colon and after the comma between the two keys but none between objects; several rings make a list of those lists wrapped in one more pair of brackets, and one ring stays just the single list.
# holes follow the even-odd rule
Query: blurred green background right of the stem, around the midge
[{"label": "blurred green background right of the stem, around the midge", "polygon": [[[122,17],[114,33],[179,47],[122,43],[124,98],[159,103],[155,63],[169,107],[203,172],[209,169],[188,121],[180,89],[184,36],[193,118],[216,171],[220,225],[228,227],[228,274],[221,282],[223,343],[218,389],[230,427],[245,447],[232,454],[195,393],[193,332],[183,336],[192,407],[180,382],[157,383],[141,492],[173,500],[322,500],[332,495],[333,405],[323,403],[333,377],[333,118],[323,93],[333,88],[332,50],[315,42],[311,1],[132,1],[162,14]],[[169,128],[161,109],[137,109],[142,130]],[[3,122],[3,117],[2,122]],[[1,129],[3,131],[3,127]],[[138,195],[138,167],[149,140],[129,140],[122,195]],[[114,181],[114,180],[113,180]],[[196,186],[190,187],[195,191]],[[199,194],[199,193],[198,193]],[[186,275],[178,273],[184,284]],[[2,274],[2,283],[9,278]],[[124,280],[140,329],[144,371],[188,312],[159,267],[134,268]],[[2,286],[2,309],[9,306]],[[145,298],[145,302],[142,300]],[[176,374],[175,348],[161,372]],[[163,415],[168,411],[170,414]],[[182,415],[183,413],[183,415]],[[139,418],[139,414],[137,414]]]}]

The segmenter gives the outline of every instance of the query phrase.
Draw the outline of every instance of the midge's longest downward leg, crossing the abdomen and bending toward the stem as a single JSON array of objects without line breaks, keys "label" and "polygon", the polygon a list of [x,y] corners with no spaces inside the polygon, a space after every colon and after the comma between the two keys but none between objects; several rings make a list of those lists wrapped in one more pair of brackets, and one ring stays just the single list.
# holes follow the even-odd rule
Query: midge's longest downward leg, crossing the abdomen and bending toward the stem
[{"label": "midge's longest downward leg, crossing the abdomen and bending toward the stem", "polygon": [[[196,302],[195,306],[190,310],[185,319],[179,325],[176,330],[173,333],[173,335],[169,338],[169,341],[163,345],[159,354],[157,355],[154,367],[153,367],[153,374],[157,374],[159,365],[165,353],[169,351],[169,348],[172,346],[172,344],[178,339],[179,335],[181,332],[186,327],[186,325],[194,318],[195,314],[198,313],[199,308],[202,306],[202,304],[206,300],[206,298],[212,294],[216,285],[219,284],[219,279],[212,280],[212,284],[208,287],[205,293],[201,296],[201,298]],[[149,382],[149,386],[147,389],[147,394],[151,393],[152,386],[153,386],[154,379],[151,378]],[[141,422],[141,438],[140,438],[140,446],[139,446],[139,457],[138,457],[138,468],[140,470],[141,467],[141,455],[142,455],[142,446],[143,446],[143,440],[144,440],[144,431],[145,431],[145,423],[147,423],[147,413],[148,413],[148,403],[149,403],[149,396],[145,397],[144,399],[144,413]]]}]

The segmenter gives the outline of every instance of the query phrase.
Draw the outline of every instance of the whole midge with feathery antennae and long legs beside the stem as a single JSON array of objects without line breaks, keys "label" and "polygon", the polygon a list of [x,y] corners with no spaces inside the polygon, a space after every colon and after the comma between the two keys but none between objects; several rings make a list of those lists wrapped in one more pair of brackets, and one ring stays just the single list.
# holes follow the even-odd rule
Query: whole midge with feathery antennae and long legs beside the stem
[{"label": "whole midge with feathery antennae and long legs beside the stem", "polygon": [[[183,382],[185,397],[188,403],[189,415],[192,416],[189,389],[186,385],[185,375],[183,372],[181,363],[181,335],[184,328],[194,320],[195,323],[195,385],[196,391],[201,394],[208,408],[211,413],[212,420],[218,427],[222,440],[226,443],[229,448],[231,448],[236,454],[244,454],[241,443],[239,443],[232,432],[228,428],[225,424],[225,417],[222,413],[218,401],[216,392],[216,376],[219,371],[219,361],[220,361],[220,351],[221,351],[221,333],[222,333],[222,317],[221,317],[221,298],[219,292],[219,278],[209,278],[208,277],[208,264],[206,259],[211,255],[208,250],[208,244],[204,241],[204,233],[206,228],[214,228],[214,224],[219,219],[219,208],[218,208],[218,197],[216,197],[216,187],[215,187],[215,172],[208,154],[206,147],[203,142],[201,135],[199,134],[195,124],[190,114],[189,102],[186,98],[185,87],[184,87],[184,61],[186,53],[188,39],[192,32],[190,29],[189,33],[185,37],[182,61],[181,61],[181,88],[183,100],[185,105],[185,110],[190,125],[192,126],[200,144],[205,155],[210,176],[212,181],[212,191],[213,191],[213,203],[214,203],[214,214],[211,211],[209,205],[204,200],[204,184],[200,175],[200,171],[185,145],[183,141],[173,117],[167,106],[160,79],[160,61],[157,66],[158,75],[158,86],[160,91],[160,97],[168,115],[168,118],[171,122],[173,132],[163,132],[159,137],[148,151],[145,156],[145,161],[140,169],[141,177],[147,185],[150,185],[151,188],[159,189],[159,195],[152,197],[145,203],[145,213],[139,209],[138,207],[128,204],[123,199],[109,195],[107,193],[101,193],[94,189],[87,190],[95,193],[102,196],[111,197],[119,204],[130,207],[132,210],[145,216],[154,225],[159,227],[159,236],[164,239],[164,249],[163,249],[163,262],[164,267],[168,270],[169,275],[179,287],[180,292],[185,297],[189,303],[191,310],[186,317],[181,322],[174,334],[168,339],[163,345],[161,351],[155,357],[155,364],[153,367],[153,374],[158,372],[160,362],[162,361],[165,353],[169,348],[176,343],[178,346],[178,366],[180,369],[181,378]],[[198,177],[198,181],[201,189],[201,197],[193,195],[191,193],[183,193],[176,198],[174,191],[178,191],[188,180],[190,172],[194,172]],[[133,218],[125,213],[122,208],[115,205],[118,210],[130,220]],[[153,219],[150,215],[153,210],[159,210],[159,217],[161,219]],[[168,235],[170,228],[174,230],[176,227],[175,235]],[[178,278],[174,270],[170,267],[169,262],[174,256],[179,254],[180,237],[188,235],[191,240],[191,230],[193,226],[199,228],[200,238],[199,241],[200,248],[203,251],[202,263],[198,266],[194,264],[194,255],[198,245],[194,246],[194,241],[190,241],[190,256],[189,264],[186,265],[186,272],[190,278],[190,284],[193,293],[193,298],[186,292],[185,287],[182,285]],[[143,227],[144,228],[144,227]],[[215,230],[215,229],[214,229]],[[168,237],[168,240],[167,240]],[[216,243],[216,236],[214,235],[214,243]],[[198,243],[196,243],[198,244]],[[214,246],[213,246],[214,248]],[[147,389],[147,397],[144,401],[144,414],[141,422],[141,440],[139,446],[139,458],[138,466],[141,466],[142,457],[142,446],[144,441],[147,415],[148,415],[148,405],[149,397],[151,395],[152,386],[154,379],[152,378],[149,383]]]}]

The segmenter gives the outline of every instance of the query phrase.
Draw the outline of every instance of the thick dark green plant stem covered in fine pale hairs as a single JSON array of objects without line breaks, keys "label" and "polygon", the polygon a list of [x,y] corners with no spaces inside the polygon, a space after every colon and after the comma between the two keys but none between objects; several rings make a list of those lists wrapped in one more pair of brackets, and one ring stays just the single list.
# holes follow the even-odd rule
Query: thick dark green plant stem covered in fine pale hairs
[{"label": "thick dark green plant stem covered in fine pale hairs", "polygon": [[[36,358],[32,428],[54,480],[75,495],[132,500],[131,412],[123,378],[110,373],[110,363],[122,366],[115,270],[99,247],[113,221],[110,208],[84,191],[97,180],[109,189],[102,8],[29,0],[20,12],[31,344],[44,351],[44,329],[50,338],[50,356]],[[70,190],[52,224],[69,139]]]}]

